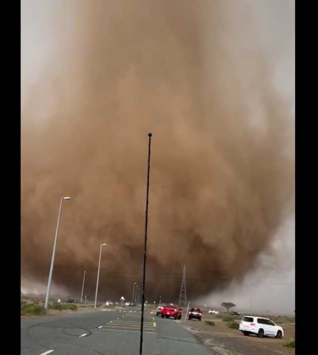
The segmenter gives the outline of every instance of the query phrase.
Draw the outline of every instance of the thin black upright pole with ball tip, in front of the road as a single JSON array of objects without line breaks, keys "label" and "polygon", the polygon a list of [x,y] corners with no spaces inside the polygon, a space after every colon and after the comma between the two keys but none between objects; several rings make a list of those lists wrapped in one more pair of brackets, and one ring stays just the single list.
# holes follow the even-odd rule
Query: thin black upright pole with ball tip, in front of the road
[{"label": "thin black upright pole with ball tip, in front of the road", "polygon": [[146,281],[146,252],[147,252],[147,227],[148,227],[148,202],[149,202],[149,174],[150,174],[150,145],[151,133],[148,133],[148,170],[147,170],[147,190],[146,190],[146,218],[145,218],[145,241],[144,241],[144,274],[142,285],[141,303],[141,324],[140,324],[140,348],[139,355],[143,354],[143,332],[144,332],[144,308],[145,308],[145,281]]}]

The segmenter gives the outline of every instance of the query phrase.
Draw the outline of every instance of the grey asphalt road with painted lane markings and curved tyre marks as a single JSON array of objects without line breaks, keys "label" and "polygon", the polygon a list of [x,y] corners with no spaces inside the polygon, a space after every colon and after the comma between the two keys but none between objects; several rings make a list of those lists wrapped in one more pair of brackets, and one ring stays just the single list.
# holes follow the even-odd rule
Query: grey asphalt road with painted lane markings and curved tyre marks
[{"label": "grey asphalt road with painted lane markings and curved tyre marks", "polygon": [[[213,355],[173,319],[146,310],[144,355]],[[139,309],[21,320],[22,355],[139,355]]]}]

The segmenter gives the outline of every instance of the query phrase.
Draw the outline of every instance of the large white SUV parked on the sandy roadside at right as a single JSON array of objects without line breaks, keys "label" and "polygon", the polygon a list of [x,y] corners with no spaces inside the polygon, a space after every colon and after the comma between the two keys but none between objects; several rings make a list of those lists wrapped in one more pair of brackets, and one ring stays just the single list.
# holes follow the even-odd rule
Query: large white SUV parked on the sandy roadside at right
[{"label": "large white SUV parked on the sandy roadside at right", "polygon": [[277,326],[270,319],[262,317],[244,316],[239,324],[239,330],[244,335],[256,334],[259,338],[268,336],[280,339],[284,336],[282,327]]}]

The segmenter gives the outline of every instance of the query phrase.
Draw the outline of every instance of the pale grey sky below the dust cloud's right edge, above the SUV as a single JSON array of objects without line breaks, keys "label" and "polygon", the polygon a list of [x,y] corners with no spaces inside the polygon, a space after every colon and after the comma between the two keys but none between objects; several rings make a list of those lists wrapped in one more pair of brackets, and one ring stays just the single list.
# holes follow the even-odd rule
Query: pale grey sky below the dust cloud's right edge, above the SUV
[{"label": "pale grey sky below the dust cloud's right edge, above the SUV", "polygon": [[[295,310],[295,216],[291,216],[276,234],[271,251],[258,258],[258,267],[233,282],[223,291],[195,300],[211,308],[222,309],[222,302],[233,302],[234,309],[264,314],[294,314]],[[224,308],[225,310],[225,308]],[[268,312],[269,311],[269,312]]]}]

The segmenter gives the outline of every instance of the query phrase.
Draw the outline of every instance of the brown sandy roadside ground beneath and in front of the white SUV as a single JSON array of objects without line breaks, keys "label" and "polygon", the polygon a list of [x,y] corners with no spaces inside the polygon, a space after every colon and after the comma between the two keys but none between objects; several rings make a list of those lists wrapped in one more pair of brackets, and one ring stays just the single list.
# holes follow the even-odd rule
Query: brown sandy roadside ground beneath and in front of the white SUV
[{"label": "brown sandy roadside ground beneath and in front of the white SUV", "polygon": [[[204,320],[213,320],[215,326],[205,325]],[[295,338],[295,324],[280,324],[285,333],[283,339],[246,337],[239,330],[228,328],[225,322],[214,316],[206,316],[201,322],[187,320],[180,325],[220,355],[295,354],[295,349],[284,347],[287,341]]]}]

